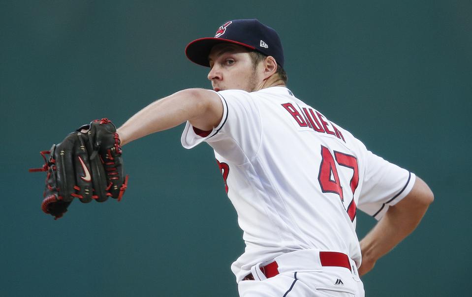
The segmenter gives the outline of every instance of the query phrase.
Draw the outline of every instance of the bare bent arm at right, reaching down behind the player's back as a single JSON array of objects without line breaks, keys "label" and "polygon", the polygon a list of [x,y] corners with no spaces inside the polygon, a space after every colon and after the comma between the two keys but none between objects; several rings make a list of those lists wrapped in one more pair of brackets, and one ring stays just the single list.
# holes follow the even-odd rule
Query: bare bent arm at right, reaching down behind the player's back
[{"label": "bare bent arm at right, reaching down behind the player's back", "polygon": [[377,225],[360,241],[360,275],[369,272],[379,258],[413,232],[433,200],[431,189],[421,178],[416,177],[409,194],[391,206]]}]

